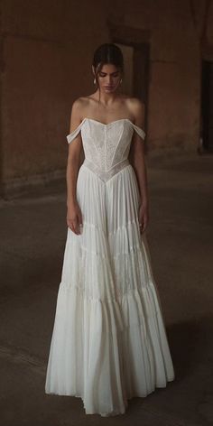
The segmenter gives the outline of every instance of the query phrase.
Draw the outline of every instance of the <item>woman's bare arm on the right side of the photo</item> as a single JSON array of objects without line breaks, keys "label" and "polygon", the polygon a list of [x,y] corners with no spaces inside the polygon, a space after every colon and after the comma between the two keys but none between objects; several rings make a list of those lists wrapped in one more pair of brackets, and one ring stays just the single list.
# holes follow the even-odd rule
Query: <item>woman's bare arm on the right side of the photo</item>
[{"label": "woman's bare arm on the right side of the photo", "polygon": [[[134,124],[138,125],[144,129],[144,104],[139,100],[134,98],[133,105],[134,113]],[[142,231],[144,232],[148,223],[148,209],[149,209],[149,200],[148,200],[148,188],[147,188],[147,171],[145,164],[145,149],[144,141],[141,137],[134,132],[131,149],[129,153],[129,160],[134,167],[135,175],[138,181],[138,187],[141,198],[141,208],[139,213],[139,221],[143,222]]]}]

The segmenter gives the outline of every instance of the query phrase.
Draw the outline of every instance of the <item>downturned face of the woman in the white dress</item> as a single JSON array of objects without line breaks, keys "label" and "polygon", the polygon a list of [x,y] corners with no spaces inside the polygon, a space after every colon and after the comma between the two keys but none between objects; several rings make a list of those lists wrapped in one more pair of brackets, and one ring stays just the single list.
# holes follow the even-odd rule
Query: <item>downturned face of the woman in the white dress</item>
[{"label": "downturned face of the woman in the white dress", "polygon": [[105,93],[115,92],[120,84],[121,77],[121,71],[116,68],[116,65],[111,63],[103,65],[97,74],[100,90]]}]

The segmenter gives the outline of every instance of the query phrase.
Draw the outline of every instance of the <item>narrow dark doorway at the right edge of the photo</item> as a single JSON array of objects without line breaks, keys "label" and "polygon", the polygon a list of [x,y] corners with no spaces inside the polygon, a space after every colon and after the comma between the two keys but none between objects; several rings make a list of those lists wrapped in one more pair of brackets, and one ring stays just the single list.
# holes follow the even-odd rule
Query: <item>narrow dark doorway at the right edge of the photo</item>
[{"label": "narrow dark doorway at the right edge of the photo", "polygon": [[213,62],[202,61],[201,140],[204,151],[213,153]]}]

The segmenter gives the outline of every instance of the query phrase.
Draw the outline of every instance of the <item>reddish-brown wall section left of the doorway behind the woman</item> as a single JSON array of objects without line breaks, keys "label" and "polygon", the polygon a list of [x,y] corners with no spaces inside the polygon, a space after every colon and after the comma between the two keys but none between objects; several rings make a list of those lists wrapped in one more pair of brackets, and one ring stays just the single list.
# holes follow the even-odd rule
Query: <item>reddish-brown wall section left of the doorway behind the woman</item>
[{"label": "reddish-brown wall section left of the doorway behind the woman", "polygon": [[93,89],[92,52],[106,38],[105,9],[92,3],[2,2],[5,191],[64,176],[71,104]]}]

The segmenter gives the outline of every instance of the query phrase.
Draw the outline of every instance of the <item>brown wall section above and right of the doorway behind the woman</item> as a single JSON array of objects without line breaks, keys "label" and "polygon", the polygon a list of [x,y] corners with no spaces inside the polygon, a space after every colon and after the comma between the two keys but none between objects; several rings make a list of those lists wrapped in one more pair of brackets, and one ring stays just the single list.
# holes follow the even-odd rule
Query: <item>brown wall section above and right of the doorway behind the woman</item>
[{"label": "brown wall section above and right of the doorway behind the woman", "polygon": [[[150,31],[148,144],[196,151],[201,59],[213,60],[213,2],[112,2],[116,25]],[[205,13],[207,14],[205,15]]]}]

